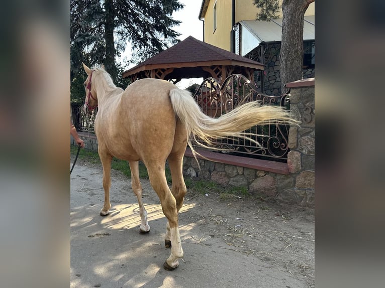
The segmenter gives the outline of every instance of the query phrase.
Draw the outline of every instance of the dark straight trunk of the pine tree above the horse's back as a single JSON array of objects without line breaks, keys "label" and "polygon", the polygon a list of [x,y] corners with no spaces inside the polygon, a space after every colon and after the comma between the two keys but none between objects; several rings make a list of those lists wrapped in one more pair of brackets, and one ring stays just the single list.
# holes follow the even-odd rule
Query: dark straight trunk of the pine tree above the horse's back
[{"label": "dark straight trunk of the pine tree above the horse's back", "polygon": [[105,0],[105,41],[106,41],[106,63],[105,69],[114,80],[114,83],[117,83],[118,73],[115,66],[115,44],[114,44],[114,3],[113,0]]}]

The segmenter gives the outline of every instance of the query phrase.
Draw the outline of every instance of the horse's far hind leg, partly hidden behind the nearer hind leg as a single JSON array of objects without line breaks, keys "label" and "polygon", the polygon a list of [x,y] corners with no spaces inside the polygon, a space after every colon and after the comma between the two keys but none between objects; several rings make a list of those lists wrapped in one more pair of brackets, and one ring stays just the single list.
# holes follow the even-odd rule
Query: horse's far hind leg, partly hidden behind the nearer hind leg
[{"label": "horse's far hind leg, partly hidden behind the nearer hind leg", "polygon": [[[170,168],[172,178],[171,193],[176,201],[177,212],[179,212],[180,208],[182,207],[184,195],[186,195],[186,185],[184,184],[182,174],[184,150],[185,147],[181,152],[172,153],[168,157],[168,167]],[[171,247],[171,233],[168,222],[166,225],[166,235],[164,236],[164,246],[166,248]]]}]

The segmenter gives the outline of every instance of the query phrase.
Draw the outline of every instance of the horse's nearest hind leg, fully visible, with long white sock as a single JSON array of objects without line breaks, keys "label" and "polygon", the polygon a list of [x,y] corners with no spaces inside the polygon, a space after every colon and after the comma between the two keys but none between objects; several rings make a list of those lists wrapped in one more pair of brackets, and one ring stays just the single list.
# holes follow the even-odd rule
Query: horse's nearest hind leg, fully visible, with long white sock
[{"label": "horse's nearest hind leg, fully visible, with long white sock", "polygon": [[179,265],[178,259],[183,257],[183,249],[178,228],[178,212],[176,200],[168,188],[163,165],[147,165],[152,188],[160,199],[163,214],[167,217],[172,242],[171,254],[164,262],[166,270],[173,270]]}]

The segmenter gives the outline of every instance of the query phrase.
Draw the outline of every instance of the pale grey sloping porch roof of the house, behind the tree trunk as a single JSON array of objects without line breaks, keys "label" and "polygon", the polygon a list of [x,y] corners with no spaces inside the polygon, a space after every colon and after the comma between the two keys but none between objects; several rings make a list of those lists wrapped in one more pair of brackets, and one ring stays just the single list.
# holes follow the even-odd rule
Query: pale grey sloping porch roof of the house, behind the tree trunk
[{"label": "pale grey sloping porch roof of the house, behind the tree trunk", "polygon": [[[243,20],[239,22],[259,42],[277,42],[282,39],[282,18],[271,21]],[[304,17],[304,40],[315,39],[315,16]]]}]

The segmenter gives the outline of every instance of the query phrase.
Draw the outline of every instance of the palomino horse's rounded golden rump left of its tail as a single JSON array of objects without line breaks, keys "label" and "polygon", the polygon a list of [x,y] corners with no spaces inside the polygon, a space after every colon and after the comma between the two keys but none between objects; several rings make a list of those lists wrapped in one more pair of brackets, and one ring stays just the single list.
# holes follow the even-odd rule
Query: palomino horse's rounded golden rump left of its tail
[{"label": "palomino horse's rounded golden rump left of its tail", "polygon": [[169,97],[171,88],[175,86],[168,81],[142,79],[122,94],[121,118],[115,128],[124,130],[141,159],[151,155],[165,160],[172,150],[176,118]]}]

